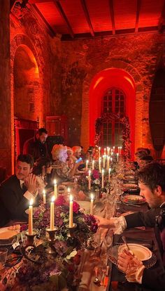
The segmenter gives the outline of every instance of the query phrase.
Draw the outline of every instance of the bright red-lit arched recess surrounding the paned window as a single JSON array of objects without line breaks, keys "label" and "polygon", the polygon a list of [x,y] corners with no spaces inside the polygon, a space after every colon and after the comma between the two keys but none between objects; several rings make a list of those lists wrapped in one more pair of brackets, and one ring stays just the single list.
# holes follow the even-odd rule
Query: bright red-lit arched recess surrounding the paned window
[{"label": "bright red-lit arched recess surrounding the paned window", "polygon": [[[129,75],[126,71],[117,69],[117,68],[108,68],[106,70],[102,70],[92,80],[90,90],[89,90],[89,136],[90,136],[90,144],[94,144],[95,137],[95,122],[96,119],[101,117],[103,112],[103,108],[101,104],[103,104],[103,98],[105,97],[105,93],[108,90],[113,91],[112,102],[113,102],[113,110],[115,109],[115,102],[118,102],[118,105],[121,103],[117,101],[118,96],[124,96],[125,106],[124,106],[124,114],[129,117],[130,127],[131,127],[131,153],[134,155],[134,138],[135,138],[135,84],[134,79]],[[115,91],[117,90],[117,91]],[[116,97],[114,97],[116,93]],[[121,99],[121,98],[120,98]],[[122,101],[122,100],[120,100]],[[115,112],[114,112],[115,113]],[[117,112],[118,113],[118,112]],[[111,124],[112,125],[112,124]],[[118,127],[116,127],[118,131]],[[114,133],[115,134],[115,127]],[[111,138],[113,142],[115,142],[115,138]],[[115,144],[117,146],[117,144]],[[110,146],[112,146],[110,144]]]}]

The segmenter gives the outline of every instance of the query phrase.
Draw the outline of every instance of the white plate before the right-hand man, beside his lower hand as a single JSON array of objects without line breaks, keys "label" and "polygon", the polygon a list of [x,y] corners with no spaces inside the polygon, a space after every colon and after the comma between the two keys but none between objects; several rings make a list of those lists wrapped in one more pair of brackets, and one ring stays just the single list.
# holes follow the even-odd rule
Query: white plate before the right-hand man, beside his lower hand
[{"label": "white plate before the right-hand man, beside his lower hand", "polygon": [[[152,257],[152,252],[148,249],[148,247],[144,247],[143,245],[138,245],[136,243],[128,243],[129,248],[138,259],[141,261],[146,261]],[[118,252],[122,252],[124,249],[127,249],[126,245],[120,245],[118,248]]]}]

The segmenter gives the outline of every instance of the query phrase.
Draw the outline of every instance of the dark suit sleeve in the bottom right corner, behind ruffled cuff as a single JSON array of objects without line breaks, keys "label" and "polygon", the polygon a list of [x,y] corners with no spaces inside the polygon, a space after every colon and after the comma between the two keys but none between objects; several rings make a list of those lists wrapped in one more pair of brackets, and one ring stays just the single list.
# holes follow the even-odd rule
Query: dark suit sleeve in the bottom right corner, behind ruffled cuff
[{"label": "dark suit sleeve in the bottom right corner, behind ruffled cuff", "polygon": [[142,284],[151,290],[165,291],[165,272],[159,269],[145,269]]}]

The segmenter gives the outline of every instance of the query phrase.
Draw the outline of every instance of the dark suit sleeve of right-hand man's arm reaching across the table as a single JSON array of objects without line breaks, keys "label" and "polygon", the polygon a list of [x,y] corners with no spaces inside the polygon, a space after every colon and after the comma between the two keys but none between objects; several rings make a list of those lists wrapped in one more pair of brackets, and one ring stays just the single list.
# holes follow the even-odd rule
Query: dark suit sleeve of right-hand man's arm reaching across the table
[{"label": "dark suit sleeve of right-hand man's arm reaching across the table", "polygon": [[155,226],[155,217],[159,214],[160,208],[150,209],[147,212],[136,212],[125,216],[127,222],[127,228],[136,226]]}]

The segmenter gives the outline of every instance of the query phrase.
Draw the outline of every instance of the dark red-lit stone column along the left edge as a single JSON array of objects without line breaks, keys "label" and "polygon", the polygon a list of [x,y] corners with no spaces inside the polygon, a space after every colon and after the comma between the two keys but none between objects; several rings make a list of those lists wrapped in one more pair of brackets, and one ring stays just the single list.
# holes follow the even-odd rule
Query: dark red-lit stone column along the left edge
[{"label": "dark red-lit stone column along the left edge", "polygon": [[0,109],[0,166],[10,174],[10,0],[0,1]]}]

